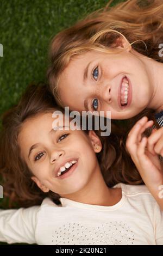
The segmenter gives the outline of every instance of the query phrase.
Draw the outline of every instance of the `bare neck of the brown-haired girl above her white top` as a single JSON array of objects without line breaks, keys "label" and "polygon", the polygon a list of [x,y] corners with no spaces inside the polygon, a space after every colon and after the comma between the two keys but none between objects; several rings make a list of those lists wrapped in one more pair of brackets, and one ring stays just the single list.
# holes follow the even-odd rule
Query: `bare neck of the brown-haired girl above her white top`
[{"label": "bare neck of the brown-haired girl above her white top", "polygon": [[98,167],[81,190],[60,196],[84,204],[112,206],[121,200],[122,191],[121,188],[109,188]]}]

